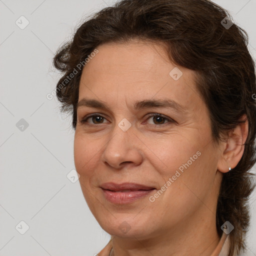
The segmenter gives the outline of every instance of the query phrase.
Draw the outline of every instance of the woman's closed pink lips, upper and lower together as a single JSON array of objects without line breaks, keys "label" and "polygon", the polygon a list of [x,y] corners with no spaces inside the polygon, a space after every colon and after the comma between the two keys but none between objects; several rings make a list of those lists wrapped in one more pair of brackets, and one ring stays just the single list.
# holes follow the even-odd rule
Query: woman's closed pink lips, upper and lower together
[{"label": "woman's closed pink lips, upper and lower together", "polygon": [[152,186],[128,182],[121,184],[114,182],[103,183],[100,188],[105,198],[115,204],[131,203],[137,199],[148,196],[152,191],[156,190]]}]

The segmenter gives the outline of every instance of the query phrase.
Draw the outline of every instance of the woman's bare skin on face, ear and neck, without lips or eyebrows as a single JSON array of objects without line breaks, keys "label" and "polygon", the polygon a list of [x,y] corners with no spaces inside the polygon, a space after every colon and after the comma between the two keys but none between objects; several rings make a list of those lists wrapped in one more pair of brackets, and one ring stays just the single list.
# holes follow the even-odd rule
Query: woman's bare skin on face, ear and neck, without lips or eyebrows
[{"label": "woman's bare skin on face, ear and neck, without lips or eyebrows", "polygon": [[[92,214],[111,234],[111,255],[210,255],[220,239],[215,212],[222,173],[242,156],[247,122],[215,143],[195,72],[170,62],[161,43],[107,43],[97,49],[83,68],[78,101],[100,100],[108,109],[78,107],[74,161]],[[178,80],[169,75],[174,67],[183,73]],[[133,108],[136,100],[163,98],[182,104],[187,112]],[[92,113],[102,120],[85,118]],[[157,121],[151,113],[174,121]],[[127,131],[118,126],[123,118],[131,124]],[[116,205],[99,187],[110,181],[135,182],[158,190],[197,151],[201,155],[154,202],[147,196]],[[119,228],[123,221],[129,226],[125,233]]]}]

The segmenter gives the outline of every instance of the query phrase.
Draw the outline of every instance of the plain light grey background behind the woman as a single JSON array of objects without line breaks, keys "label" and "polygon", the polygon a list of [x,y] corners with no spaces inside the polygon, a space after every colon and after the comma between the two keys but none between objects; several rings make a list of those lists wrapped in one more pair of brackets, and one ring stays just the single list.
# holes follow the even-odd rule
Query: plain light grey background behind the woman
[{"label": "plain light grey background behind the woman", "polygon": [[[71,118],[46,94],[60,77],[51,64],[57,47],[86,14],[112,2],[0,0],[1,256],[93,255],[110,238],[88,209],[79,182],[66,177],[74,168]],[[214,2],[248,32],[255,58],[256,0]],[[24,29],[15,24],[21,15],[29,21]],[[16,127],[21,118],[29,125],[23,131]],[[250,202],[248,255],[256,255],[255,191]],[[15,229],[21,220],[29,226],[24,234]]]}]

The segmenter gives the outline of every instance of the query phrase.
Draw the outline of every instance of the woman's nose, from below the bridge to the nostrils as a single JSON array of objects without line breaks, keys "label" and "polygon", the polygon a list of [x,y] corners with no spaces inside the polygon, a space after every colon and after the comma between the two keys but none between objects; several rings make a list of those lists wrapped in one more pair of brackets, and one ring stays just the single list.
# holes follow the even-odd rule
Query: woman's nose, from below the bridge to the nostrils
[{"label": "woman's nose, from below the bridge to the nostrils", "polygon": [[143,143],[134,134],[132,126],[123,131],[116,125],[109,133],[101,160],[115,169],[126,165],[137,166],[143,160],[141,144]]}]

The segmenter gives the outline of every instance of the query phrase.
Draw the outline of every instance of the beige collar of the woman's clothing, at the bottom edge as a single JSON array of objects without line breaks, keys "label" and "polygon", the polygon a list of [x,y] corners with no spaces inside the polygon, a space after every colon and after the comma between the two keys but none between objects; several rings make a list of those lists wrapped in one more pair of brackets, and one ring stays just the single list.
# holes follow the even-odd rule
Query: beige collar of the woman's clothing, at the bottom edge
[{"label": "beige collar of the woman's clothing, at the bottom edge", "polygon": [[[110,240],[107,245],[98,253],[98,256],[109,256],[112,249],[112,241]],[[228,256],[229,252],[229,237],[224,232],[221,235],[221,238],[210,256]],[[234,252],[233,256],[237,256],[237,253]],[[242,254],[239,254],[242,256]]]}]

